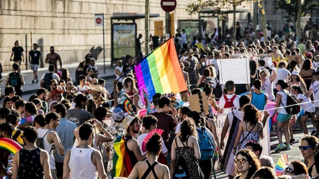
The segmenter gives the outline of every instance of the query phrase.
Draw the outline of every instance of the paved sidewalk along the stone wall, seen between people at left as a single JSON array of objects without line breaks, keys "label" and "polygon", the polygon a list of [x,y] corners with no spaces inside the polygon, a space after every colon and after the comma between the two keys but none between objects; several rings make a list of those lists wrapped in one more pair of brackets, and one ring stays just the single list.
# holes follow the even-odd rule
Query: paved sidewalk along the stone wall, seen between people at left
[{"label": "paved sidewalk along the stone wall, seen between people at left", "polygon": [[[69,69],[69,73],[70,73],[70,77],[72,78],[72,81],[75,82],[75,70],[78,68],[80,62],[76,62],[76,63],[72,63],[72,64],[63,64],[62,68],[68,68]],[[105,73],[103,70],[103,61],[96,61],[96,65],[98,66],[98,70],[99,70],[99,76],[100,78],[103,79],[110,79],[110,78],[114,78],[115,79],[115,75],[114,75],[114,69],[115,66],[111,67],[111,62],[105,62]],[[59,65],[58,65],[59,66]],[[32,84],[32,80],[33,80],[33,71],[32,70],[21,70],[21,74],[23,75],[24,81],[25,81],[25,85],[22,86],[23,88],[23,94],[30,94],[30,93],[35,93],[37,89],[40,88],[40,78],[44,73],[48,72],[48,67],[45,68],[39,68],[38,69],[38,79],[39,82],[38,83],[34,83]],[[9,71],[2,73],[2,82],[1,82],[1,89],[2,89],[2,95],[4,95],[4,87],[5,87],[5,82],[6,82],[6,78],[7,75],[11,73]],[[113,84],[105,84],[106,86],[108,85],[112,85]]]}]

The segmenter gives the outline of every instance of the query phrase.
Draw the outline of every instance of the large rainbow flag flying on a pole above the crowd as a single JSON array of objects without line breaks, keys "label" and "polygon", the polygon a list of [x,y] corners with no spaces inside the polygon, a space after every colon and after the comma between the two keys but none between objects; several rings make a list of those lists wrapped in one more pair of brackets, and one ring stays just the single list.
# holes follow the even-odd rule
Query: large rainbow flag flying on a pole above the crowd
[{"label": "large rainbow flag flying on a pole above the crowd", "polygon": [[[135,66],[140,94],[142,89],[150,102],[155,93],[179,93],[187,90],[186,82],[178,61],[173,38],[168,39],[152,53],[142,58]],[[143,102],[144,99],[142,98]]]}]

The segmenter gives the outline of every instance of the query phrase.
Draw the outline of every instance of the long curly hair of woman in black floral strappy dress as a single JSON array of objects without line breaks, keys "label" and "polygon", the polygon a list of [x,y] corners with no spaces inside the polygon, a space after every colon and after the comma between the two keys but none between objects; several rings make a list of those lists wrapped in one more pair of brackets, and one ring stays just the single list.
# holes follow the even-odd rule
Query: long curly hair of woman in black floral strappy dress
[{"label": "long curly hair of woman in black floral strappy dress", "polygon": [[187,139],[187,136],[194,136],[197,138],[197,131],[196,131],[196,125],[193,119],[186,118],[183,120],[181,124],[181,141],[185,142]]}]

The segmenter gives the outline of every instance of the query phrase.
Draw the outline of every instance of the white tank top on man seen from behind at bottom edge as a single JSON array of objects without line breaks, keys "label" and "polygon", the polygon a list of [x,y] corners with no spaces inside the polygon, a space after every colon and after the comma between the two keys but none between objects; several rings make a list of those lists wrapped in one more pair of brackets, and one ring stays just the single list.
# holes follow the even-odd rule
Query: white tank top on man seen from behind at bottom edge
[{"label": "white tank top on man seen from behind at bottom edge", "polygon": [[91,161],[91,154],[94,148],[71,149],[69,168],[71,179],[97,179],[98,172],[96,166]]}]

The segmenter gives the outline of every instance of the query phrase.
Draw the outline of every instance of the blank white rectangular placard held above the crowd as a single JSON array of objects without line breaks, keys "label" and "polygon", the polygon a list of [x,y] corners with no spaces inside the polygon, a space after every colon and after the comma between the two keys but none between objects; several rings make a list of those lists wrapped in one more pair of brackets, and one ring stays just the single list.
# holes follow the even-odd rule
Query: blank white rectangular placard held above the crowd
[{"label": "blank white rectangular placard held above the crowd", "polygon": [[249,59],[219,59],[219,80],[220,84],[233,81],[235,84],[249,84]]}]

